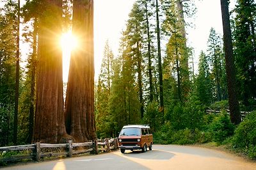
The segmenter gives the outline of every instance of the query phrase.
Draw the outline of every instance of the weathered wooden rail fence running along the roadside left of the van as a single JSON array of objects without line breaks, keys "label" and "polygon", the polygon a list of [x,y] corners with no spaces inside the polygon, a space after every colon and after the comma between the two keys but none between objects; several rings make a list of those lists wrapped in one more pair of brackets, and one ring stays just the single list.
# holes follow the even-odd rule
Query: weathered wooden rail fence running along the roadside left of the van
[{"label": "weathered wooden rail fence running along the roadside left of the van", "polygon": [[[19,145],[19,146],[6,146],[0,147],[1,162],[14,162],[20,160],[36,160],[40,161],[44,157],[72,157],[79,153],[99,153],[99,152],[110,152],[111,150],[118,149],[118,139],[104,139],[95,140],[84,143],[60,143],[60,144],[49,144],[49,143],[34,143],[31,145]],[[63,152],[64,150],[64,152]],[[7,155],[8,152],[24,152],[21,155]],[[55,151],[55,152],[54,152]],[[57,151],[57,152],[56,152]],[[61,152],[62,151],[62,152]],[[26,153],[27,152],[27,153]]]}]

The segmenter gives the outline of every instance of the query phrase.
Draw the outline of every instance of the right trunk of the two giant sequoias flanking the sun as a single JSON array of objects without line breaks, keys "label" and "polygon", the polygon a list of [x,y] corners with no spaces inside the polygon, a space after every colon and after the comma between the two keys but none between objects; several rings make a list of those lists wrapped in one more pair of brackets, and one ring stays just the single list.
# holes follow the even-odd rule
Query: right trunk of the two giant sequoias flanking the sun
[{"label": "right trunk of the two giant sequoias flanking the sun", "polygon": [[73,30],[79,47],[73,50],[68,76],[65,118],[68,134],[77,142],[96,138],[94,117],[93,0],[73,1]]}]

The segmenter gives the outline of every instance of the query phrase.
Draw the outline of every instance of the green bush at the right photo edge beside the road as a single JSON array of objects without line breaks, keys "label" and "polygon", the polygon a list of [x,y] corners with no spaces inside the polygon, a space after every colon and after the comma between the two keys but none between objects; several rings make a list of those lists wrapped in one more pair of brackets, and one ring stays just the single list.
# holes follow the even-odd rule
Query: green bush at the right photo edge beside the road
[{"label": "green bush at the right photo edge beside the road", "polygon": [[234,132],[232,145],[256,159],[256,111],[248,115]]}]

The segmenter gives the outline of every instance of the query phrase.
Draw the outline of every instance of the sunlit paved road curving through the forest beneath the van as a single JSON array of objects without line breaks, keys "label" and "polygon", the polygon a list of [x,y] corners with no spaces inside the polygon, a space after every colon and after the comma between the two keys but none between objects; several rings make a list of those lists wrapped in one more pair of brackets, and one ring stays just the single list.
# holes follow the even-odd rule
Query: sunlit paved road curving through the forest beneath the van
[{"label": "sunlit paved road curving through the forest beneath the van", "polygon": [[[0,168],[1,169],[1,168]],[[84,169],[216,169],[256,170],[256,163],[246,162],[234,155],[195,146],[153,145],[145,153],[116,151],[100,155],[75,157],[22,166],[4,167],[4,170],[84,170]]]}]

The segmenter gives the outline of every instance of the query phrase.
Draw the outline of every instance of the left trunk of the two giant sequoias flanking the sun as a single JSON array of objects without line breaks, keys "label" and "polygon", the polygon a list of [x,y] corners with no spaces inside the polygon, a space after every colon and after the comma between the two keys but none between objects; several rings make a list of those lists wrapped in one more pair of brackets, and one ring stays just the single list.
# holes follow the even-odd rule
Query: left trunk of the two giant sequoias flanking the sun
[{"label": "left trunk of the two giant sequoias flanking the sun", "polygon": [[60,48],[61,0],[41,1],[38,20],[38,72],[33,140],[58,143],[65,137],[62,57]]}]

